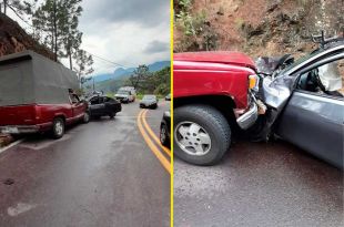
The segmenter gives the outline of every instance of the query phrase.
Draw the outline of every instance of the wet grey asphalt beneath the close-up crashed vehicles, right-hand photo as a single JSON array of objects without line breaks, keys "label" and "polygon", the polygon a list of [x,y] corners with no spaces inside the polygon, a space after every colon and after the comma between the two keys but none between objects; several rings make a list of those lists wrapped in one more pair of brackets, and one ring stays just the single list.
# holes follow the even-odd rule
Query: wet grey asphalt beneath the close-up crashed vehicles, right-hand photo
[{"label": "wet grey asphalt beneath the close-up crashed vehicles, right-hand photo", "polygon": [[282,141],[239,141],[219,165],[174,158],[174,226],[344,226],[343,172]]}]

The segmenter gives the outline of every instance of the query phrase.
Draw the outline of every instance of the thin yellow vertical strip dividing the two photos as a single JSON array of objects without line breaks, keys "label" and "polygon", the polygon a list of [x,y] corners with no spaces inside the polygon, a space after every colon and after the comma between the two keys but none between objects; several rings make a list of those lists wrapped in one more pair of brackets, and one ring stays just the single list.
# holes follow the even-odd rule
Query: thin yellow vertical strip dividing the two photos
[{"label": "thin yellow vertical strip dividing the two photos", "polygon": [[173,227],[173,20],[174,20],[174,9],[173,0],[171,0],[171,13],[170,13],[170,44],[171,44],[171,227]]}]

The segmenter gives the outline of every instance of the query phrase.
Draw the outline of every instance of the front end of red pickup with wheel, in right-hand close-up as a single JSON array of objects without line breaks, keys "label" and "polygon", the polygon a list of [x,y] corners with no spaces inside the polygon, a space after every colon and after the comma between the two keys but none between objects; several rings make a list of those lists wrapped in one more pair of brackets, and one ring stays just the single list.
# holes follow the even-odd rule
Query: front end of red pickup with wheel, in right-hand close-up
[{"label": "front end of red pickup with wheel, in right-hand close-up", "polygon": [[175,53],[173,83],[174,154],[192,164],[219,162],[232,132],[252,126],[263,107],[254,62],[240,52]]}]

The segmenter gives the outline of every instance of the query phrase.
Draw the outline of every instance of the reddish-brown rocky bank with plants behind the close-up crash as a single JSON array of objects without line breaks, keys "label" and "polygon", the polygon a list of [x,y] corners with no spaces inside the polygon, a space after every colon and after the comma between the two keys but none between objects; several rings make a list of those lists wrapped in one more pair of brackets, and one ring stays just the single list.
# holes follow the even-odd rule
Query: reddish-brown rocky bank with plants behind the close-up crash
[{"label": "reddish-brown rocky bank with plants behind the close-up crash", "polygon": [[[175,13],[181,10],[176,8]],[[196,22],[204,17],[203,25],[193,23],[200,30],[186,35],[176,19],[175,52],[239,50],[251,56],[301,55],[316,47],[310,40],[312,33],[324,30],[343,35],[344,31],[343,0],[194,0],[189,11]]]}]

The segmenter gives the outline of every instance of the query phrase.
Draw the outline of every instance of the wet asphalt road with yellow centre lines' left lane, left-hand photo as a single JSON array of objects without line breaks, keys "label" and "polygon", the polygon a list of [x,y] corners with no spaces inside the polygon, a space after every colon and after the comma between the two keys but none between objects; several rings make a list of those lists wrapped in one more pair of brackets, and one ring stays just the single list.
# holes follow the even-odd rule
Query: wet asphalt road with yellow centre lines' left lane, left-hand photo
[{"label": "wet asphalt road with yellow centre lines' left lane, left-hand photo", "polygon": [[[170,174],[138,130],[138,102],[122,106],[114,120],[75,125],[59,141],[30,136],[0,154],[0,226],[170,226]],[[168,109],[148,113],[156,133]]]}]

